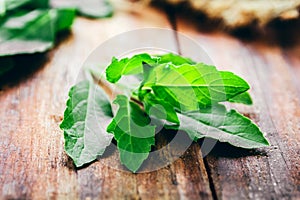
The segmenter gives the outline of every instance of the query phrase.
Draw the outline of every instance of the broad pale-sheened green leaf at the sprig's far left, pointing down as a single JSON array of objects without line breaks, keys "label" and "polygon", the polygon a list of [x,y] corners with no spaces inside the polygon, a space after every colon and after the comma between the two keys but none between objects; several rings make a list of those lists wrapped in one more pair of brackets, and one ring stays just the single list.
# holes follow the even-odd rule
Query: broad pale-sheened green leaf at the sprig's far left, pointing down
[{"label": "broad pale-sheened green leaf at the sprig's far left, pointing down", "polygon": [[97,85],[83,81],[69,92],[64,120],[65,151],[77,167],[95,160],[111,143],[106,126],[112,119],[110,102]]}]

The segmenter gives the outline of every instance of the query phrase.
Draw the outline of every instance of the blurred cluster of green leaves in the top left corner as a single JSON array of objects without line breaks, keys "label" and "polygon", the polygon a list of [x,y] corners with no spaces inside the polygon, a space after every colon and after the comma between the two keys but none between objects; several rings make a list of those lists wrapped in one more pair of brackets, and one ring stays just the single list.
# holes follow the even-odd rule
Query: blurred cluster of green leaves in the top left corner
[{"label": "blurred cluster of green leaves in the top left corner", "polygon": [[102,18],[112,16],[113,9],[107,0],[0,0],[0,76],[14,67],[14,55],[51,49],[76,13]]}]

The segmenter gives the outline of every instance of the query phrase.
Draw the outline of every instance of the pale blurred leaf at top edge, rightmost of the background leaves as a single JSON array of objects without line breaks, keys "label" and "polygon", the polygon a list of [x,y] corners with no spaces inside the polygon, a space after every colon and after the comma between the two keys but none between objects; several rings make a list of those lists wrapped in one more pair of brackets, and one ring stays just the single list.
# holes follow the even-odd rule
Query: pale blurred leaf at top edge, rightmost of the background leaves
[{"label": "pale blurred leaf at top edge, rightmost of the background leaves", "polygon": [[111,17],[113,7],[108,0],[51,0],[54,8],[76,8],[79,14],[91,18]]}]

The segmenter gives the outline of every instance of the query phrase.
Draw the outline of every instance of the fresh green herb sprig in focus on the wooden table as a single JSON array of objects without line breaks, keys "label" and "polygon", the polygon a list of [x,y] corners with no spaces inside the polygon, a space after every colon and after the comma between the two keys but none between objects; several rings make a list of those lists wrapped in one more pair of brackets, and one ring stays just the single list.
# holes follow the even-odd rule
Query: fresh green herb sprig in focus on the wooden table
[{"label": "fresh green herb sprig in focus on the wooden table", "polygon": [[194,141],[209,137],[241,148],[269,145],[249,118],[222,104],[252,104],[248,83],[231,72],[171,53],[113,58],[106,68],[112,84],[128,75],[142,77],[140,85],[130,96],[115,97],[116,111],[97,84],[82,81],[71,88],[60,128],[77,167],[101,156],[114,138],[121,163],[136,172],[155,145],[156,122]]}]

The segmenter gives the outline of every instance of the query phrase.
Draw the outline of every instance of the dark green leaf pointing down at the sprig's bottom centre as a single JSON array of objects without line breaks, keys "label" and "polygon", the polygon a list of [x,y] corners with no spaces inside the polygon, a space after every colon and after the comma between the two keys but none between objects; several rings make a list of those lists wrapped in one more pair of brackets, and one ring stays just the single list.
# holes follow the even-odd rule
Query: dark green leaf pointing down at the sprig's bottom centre
[{"label": "dark green leaf pointing down at the sprig's bottom centre", "polygon": [[150,118],[126,96],[118,95],[114,103],[119,109],[107,131],[117,140],[121,163],[136,172],[155,143],[155,126],[149,125]]}]

